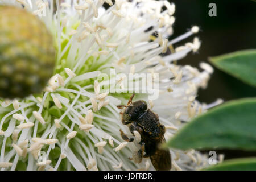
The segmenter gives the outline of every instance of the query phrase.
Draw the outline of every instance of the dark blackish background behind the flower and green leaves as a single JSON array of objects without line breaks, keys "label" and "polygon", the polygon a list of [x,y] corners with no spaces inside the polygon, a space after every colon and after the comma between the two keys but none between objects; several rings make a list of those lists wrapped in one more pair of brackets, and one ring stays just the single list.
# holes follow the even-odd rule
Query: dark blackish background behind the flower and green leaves
[{"label": "dark blackish background behind the flower and green leaves", "polygon": [[[199,63],[209,63],[208,57],[243,49],[256,48],[256,2],[250,0],[172,0],[176,5],[174,35],[183,34],[193,25],[200,27],[196,34],[201,40],[198,53],[189,53],[179,64],[189,64],[199,68]],[[216,3],[217,17],[209,17],[209,3]],[[193,38],[188,39],[189,42]],[[181,46],[185,42],[176,46]],[[224,101],[244,97],[255,97],[256,89],[242,81],[214,68],[207,89],[200,89],[197,99],[201,102],[213,102],[217,98]],[[207,152],[208,151],[203,151]],[[256,156],[256,152],[240,150],[217,150],[225,154],[225,159]]]}]

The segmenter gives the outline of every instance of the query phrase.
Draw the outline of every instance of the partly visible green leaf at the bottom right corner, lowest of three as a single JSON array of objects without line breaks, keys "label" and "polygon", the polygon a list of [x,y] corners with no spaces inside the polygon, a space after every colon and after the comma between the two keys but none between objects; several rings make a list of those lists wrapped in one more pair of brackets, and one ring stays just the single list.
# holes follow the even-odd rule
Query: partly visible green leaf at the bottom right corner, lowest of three
[{"label": "partly visible green leaf at the bottom right corner, lowest of three", "polygon": [[223,163],[210,166],[204,171],[256,171],[256,158],[225,160]]}]

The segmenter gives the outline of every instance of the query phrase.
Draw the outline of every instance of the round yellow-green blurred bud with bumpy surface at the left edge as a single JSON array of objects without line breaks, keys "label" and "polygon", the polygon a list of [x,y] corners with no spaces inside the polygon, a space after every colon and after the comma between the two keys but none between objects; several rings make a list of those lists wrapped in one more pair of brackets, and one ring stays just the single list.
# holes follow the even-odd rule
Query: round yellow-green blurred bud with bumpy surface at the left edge
[{"label": "round yellow-green blurred bud with bumpy surface at the left edge", "polygon": [[0,6],[0,14],[0,97],[42,92],[55,65],[51,34],[26,10]]}]

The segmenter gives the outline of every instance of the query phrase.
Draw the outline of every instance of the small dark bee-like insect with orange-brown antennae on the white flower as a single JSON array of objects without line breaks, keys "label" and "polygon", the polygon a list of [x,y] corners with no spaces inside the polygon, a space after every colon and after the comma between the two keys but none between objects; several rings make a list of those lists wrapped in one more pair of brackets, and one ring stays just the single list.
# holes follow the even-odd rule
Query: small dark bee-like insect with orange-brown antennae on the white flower
[{"label": "small dark bee-like insect with orange-brown antennae on the white flower", "polygon": [[[134,94],[125,105],[117,106],[118,109],[126,108],[121,111],[123,125],[129,125],[131,133],[138,131],[141,134],[141,148],[133,154],[135,163],[140,163],[142,158],[150,158],[153,166],[158,171],[171,169],[171,154],[169,150],[160,148],[160,144],[165,142],[165,127],[159,122],[158,114],[147,108],[145,101],[132,102]],[[134,138],[129,138],[120,129],[121,136],[127,142],[133,142]],[[131,158],[130,158],[131,159]]]}]

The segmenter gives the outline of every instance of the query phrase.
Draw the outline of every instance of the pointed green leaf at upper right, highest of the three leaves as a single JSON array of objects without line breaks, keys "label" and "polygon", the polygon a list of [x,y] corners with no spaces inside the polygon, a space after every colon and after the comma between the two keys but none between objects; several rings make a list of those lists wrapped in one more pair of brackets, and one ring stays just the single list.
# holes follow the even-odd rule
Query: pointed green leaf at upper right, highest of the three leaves
[{"label": "pointed green leaf at upper right, highest of the three leaves", "polygon": [[256,50],[237,51],[210,57],[209,61],[218,69],[256,86]]}]

